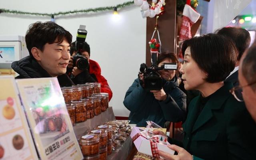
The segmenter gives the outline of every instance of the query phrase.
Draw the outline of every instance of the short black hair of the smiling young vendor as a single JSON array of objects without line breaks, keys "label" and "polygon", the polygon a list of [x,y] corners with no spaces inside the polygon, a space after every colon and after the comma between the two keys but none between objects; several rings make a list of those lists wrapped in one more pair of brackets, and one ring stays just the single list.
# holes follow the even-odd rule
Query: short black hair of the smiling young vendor
[{"label": "short black hair of the smiling young vendor", "polygon": [[29,55],[33,57],[31,49],[37,47],[41,51],[44,51],[44,45],[46,43],[62,43],[66,40],[69,44],[72,42],[72,35],[65,30],[62,26],[54,22],[36,22],[30,24],[25,36],[26,45],[29,51]]}]

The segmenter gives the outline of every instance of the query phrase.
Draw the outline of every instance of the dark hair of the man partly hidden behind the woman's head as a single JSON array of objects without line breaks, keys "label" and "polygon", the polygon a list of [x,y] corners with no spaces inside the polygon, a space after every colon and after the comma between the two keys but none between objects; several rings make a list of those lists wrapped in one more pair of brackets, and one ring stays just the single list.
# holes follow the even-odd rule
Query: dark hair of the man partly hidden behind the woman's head
[{"label": "dark hair of the man partly hidden behind the woman's head", "polygon": [[249,47],[251,42],[250,33],[244,28],[224,27],[215,31],[216,34],[231,38],[238,50],[237,60],[239,61],[244,51]]}]

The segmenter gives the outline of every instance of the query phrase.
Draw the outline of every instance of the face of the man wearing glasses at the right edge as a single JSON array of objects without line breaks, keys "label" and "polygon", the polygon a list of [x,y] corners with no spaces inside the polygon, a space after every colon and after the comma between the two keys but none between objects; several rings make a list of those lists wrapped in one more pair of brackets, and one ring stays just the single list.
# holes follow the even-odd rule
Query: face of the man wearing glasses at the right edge
[{"label": "face of the man wearing glasses at the right edge", "polygon": [[[248,82],[246,81],[243,73],[242,73],[242,65],[240,65],[240,68],[238,70],[238,80],[240,83],[240,86],[248,85]],[[252,89],[251,86],[246,86],[242,88],[242,95],[243,99],[246,105],[247,110],[252,115],[252,118],[254,121],[256,121],[256,91]]]}]

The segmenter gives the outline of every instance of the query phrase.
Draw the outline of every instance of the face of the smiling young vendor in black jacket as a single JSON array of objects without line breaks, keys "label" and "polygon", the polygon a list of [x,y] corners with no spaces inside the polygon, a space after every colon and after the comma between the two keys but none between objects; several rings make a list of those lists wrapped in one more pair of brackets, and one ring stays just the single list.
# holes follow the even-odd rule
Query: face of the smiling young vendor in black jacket
[{"label": "face of the smiling young vendor in black jacket", "polygon": [[70,44],[66,40],[61,43],[46,43],[44,45],[44,51],[38,50],[38,63],[52,77],[66,73],[70,59]]}]

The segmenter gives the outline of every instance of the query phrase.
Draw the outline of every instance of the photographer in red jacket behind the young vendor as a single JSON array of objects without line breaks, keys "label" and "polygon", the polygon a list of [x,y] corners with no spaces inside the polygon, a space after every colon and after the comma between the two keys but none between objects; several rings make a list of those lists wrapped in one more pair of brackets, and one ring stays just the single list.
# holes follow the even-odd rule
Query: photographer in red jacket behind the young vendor
[{"label": "photographer in red jacket behind the young vendor", "polygon": [[[70,54],[71,55],[76,55],[76,47],[75,47],[75,42],[71,44],[70,48]],[[108,81],[101,75],[101,69],[100,65],[90,59],[90,45],[88,43],[84,43],[83,51],[82,51],[82,56],[86,57],[86,59],[89,62],[89,69],[86,69],[85,71],[82,71],[78,69],[77,67],[73,66],[73,57],[70,57],[70,61],[68,63],[68,68],[72,68],[72,71],[70,72],[70,77],[72,78],[72,81],[75,84],[84,84],[87,82],[98,82],[101,84],[101,93],[108,93],[108,101],[112,98],[112,91],[108,85]]]}]

